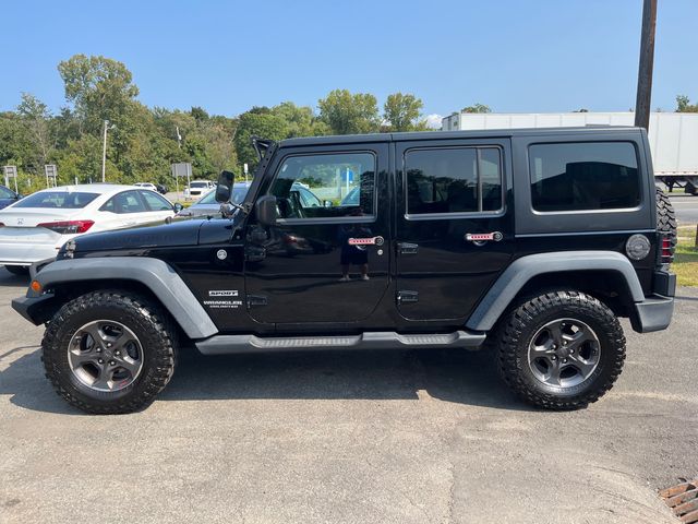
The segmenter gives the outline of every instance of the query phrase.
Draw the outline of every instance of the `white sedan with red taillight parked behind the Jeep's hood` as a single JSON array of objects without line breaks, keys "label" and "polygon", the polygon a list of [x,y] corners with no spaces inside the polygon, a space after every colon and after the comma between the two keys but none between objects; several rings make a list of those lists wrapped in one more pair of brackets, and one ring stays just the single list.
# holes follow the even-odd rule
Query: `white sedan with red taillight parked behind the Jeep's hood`
[{"label": "white sedan with red taillight parked behind the Jeep's hood", "polygon": [[45,189],[0,210],[0,265],[25,274],[35,262],[52,259],[84,233],[165,222],[179,204],[133,186],[83,184]]}]

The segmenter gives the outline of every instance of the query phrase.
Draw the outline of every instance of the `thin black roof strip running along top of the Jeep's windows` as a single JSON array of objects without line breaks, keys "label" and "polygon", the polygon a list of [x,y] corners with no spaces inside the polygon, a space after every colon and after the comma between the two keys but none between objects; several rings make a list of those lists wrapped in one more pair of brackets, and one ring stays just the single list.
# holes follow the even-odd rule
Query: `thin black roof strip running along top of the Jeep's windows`
[{"label": "thin black roof strip running along top of the Jeep's windows", "polygon": [[470,131],[419,131],[409,133],[373,133],[342,134],[332,136],[304,136],[287,139],[279,142],[280,147],[301,145],[352,144],[358,142],[406,142],[414,140],[450,140],[450,139],[486,139],[517,135],[551,134],[613,134],[623,132],[641,132],[640,128],[630,126],[587,126],[581,128],[522,128],[522,129],[482,129]]}]

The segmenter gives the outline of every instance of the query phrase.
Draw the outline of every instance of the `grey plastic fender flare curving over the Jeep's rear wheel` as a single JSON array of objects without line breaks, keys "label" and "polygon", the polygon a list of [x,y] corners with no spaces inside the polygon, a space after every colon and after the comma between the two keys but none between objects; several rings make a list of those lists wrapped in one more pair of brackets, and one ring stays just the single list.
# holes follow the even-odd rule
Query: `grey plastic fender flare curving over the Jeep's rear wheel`
[{"label": "grey plastic fender flare curving over the Jeep's rear wheel", "polygon": [[630,261],[615,251],[556,251],[529,254],[515,260],[500,275],[472,312],[466,327],[490,331],[521,288],[534,276],[568,271],[612,271],[628,285],[634,302],[645,300],[645,293]]}]

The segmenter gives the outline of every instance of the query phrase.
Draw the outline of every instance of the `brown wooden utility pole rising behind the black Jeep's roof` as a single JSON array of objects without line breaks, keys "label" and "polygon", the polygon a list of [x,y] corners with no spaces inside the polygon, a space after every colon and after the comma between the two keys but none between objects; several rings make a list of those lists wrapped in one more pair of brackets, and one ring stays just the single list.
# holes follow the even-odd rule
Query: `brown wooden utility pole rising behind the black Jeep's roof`
[{"label": "brown wooden utility pole rising behind the black Jeep's roof", "polygon": [[635,126],[645,129],[648,129],[650,126],[655,27],[657,0],[643,0],[642,34],[640,36],[640,67],[637,75],[637,99],[635,103]]}]

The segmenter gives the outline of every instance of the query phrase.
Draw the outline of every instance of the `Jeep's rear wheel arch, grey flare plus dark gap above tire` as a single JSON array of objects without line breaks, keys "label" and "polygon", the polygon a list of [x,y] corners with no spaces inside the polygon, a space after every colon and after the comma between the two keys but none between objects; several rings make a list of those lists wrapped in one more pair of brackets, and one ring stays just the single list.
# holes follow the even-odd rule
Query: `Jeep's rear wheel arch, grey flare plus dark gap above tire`
[{"label": "Jeep's rear wheel arch, grey flare plus dark gap above tire", "polygon": [[645,299],[633,264],[615,251],[561,251],[521,257],[500,275],[466,322],[490,331],[502,314],[524,298],[562,287],[588,293],[616,315],[633,314]]}]

